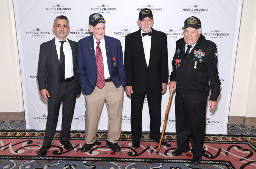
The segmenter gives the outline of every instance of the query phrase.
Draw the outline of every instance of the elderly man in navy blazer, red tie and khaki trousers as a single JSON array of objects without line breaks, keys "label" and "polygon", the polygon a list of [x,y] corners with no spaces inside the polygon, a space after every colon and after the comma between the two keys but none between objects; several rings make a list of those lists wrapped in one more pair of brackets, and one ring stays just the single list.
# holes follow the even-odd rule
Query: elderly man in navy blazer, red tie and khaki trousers
[{"label": "elderly man in navy blazer, red tie and khaki trousers", "polygon": [[105,23],[101,14],[91,14],[88,27],[93,34],[78,41],[77,72],[86,102],[82,152],[97,145],[96,134],[104,102],[108,111],[106,145],[112,151],[121,151],[117,142],[121,135],[125,86],[123,51],[120,40],[105,36]]}]

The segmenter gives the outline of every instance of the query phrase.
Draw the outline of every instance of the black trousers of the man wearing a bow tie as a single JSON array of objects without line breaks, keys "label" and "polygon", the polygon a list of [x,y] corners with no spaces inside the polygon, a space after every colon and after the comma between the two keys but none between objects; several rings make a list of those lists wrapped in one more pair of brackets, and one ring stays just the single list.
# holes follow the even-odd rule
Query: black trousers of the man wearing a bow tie
[{"label": "black trousers of the man wearing a bow tie", "polygon": [[152,93],[147,82],[146,91],[141,95],[133,93],[131,97],[131,129],[133,139],[140,139],[142,137],[142,108],[145,94],[147,95],[150,116],[150,137],[160,138],[161,126],[161,101],[162,93]]}]

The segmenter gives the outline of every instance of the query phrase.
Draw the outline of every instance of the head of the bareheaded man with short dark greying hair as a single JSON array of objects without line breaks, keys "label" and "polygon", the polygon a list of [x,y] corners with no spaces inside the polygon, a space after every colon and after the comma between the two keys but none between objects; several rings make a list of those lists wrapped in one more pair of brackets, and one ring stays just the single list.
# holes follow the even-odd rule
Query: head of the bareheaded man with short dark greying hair
[{"label": "head of the bareheaded man with short dark greying hair", "polygon": [[56,38],[65,40],[70,31],[68,21],[66,19],[56,19],[56,24],[53,26]]}]

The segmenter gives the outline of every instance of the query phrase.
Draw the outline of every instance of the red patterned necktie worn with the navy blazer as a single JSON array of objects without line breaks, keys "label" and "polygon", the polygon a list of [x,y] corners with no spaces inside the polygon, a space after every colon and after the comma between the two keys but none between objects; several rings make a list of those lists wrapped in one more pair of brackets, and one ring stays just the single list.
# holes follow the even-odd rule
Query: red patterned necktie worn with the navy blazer
[{"label": "red patterned necktie worn with the navy blazer", "polygon": [[99,43],[101,42],[96,42],[97,47],[96,47],[96,65],[97,65],[97,83],[96,85],[102,89],[103,86],[105,86],[105,78],[104,78],[104,64],[103,64],[103,58],[102,58],[102,52],[101,48],[99,48]]}]

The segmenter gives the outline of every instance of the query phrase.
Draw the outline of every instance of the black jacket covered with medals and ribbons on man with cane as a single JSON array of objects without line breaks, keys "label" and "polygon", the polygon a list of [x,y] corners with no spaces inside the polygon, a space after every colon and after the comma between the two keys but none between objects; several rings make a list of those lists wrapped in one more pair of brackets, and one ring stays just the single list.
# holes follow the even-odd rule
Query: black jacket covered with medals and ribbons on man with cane
[{"label": "black jacket covered with medals and ribbons on man with cane", "polygon": [[[217,101],[220,94],[220,80],[217,69],[216,44],[206,40],[201,34],[194,48],[185,59],[184,38],[176,42],[176,51],[172,60],[171,81],[176,81],[176,94],[183,97],[208,97]],[[210,79],[210,85],[209,85]]]}]

